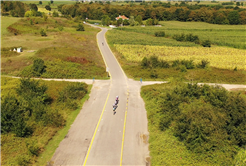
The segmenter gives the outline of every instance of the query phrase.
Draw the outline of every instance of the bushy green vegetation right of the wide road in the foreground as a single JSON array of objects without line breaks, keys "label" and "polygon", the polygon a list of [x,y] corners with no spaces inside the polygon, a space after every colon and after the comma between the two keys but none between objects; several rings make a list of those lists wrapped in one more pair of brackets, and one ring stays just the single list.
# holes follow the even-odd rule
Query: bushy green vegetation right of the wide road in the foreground
[{"label": "bushy green vegetation right of the wide road in the foreground", "polygon": [[245,165],[246,94],[184,84],[141,90],[151,165]]}]

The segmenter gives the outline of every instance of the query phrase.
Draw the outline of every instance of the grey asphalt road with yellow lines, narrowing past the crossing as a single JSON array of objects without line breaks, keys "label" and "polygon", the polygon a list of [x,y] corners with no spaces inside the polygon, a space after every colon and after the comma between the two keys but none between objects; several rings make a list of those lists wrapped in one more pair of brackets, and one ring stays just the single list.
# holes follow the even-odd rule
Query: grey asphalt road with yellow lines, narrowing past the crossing
[{"label": "grey asphalt road with yellow lines, narrowing past the crossing", "polygon": [[[52,165],[148,165],[141,84],[125,76],[106,43],[106,31],[102,29],[97,39],[111,79],[94,82],[89,100],[57,148]],[[119,104],[114,113],[116,96]]]}]

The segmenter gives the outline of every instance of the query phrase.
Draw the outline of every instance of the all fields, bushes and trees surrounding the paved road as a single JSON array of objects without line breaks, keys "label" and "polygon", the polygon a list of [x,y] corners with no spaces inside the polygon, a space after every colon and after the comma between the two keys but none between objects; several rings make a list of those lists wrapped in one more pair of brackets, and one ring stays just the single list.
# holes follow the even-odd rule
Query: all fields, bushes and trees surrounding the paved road
[{"label": "all fields, bushes and trees surrounding the paved road", "polygon": [[243,1],[0,5],[0,165],[47,165],[93,87],[32,78],[109,79],[84,22],[116,27],[105,37],[128,78],[168,81],[141,87],[151,165],[246,165],[245,88],[197,84],[246,85]]}]

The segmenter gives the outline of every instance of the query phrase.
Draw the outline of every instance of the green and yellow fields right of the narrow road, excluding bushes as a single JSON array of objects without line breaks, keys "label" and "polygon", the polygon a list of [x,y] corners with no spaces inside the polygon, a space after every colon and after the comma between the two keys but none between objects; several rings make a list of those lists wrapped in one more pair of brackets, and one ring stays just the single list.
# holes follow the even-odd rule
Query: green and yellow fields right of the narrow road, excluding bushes
[{"label": "green and yellow fields right of the narrow road, excluding bushes", "polygon": [[[140,78],[143,80],[169,80],[171,78],[180,77],[184,81],[234,84],[246,83],[245,49],[228,48],[229,45],[233,45],[232,41],[237,41],[234,44],[235,47],[244,47],[244,26],[177,21],[166,21],[161,22],[161,24],[164,26],[123,27],[107,32],[106,37],[110,47],[128,77],[136,80]],[[154,33],[160,30],[165,31],[166,37],[154,36]],[[212,44],[211,48],[204,48],[193,42],[179,42],[171,38],[173,34],[180,33],[192,33],[193,35],[198,35],[200,40],[209,39],[212,43],[218,42],[219,46]],[[223,37],[223,35],[230,40]],[[231,53],[228,54],[226,50],[231,50]],[[170,56],[168,56],[169,53]],[[165,60],[169,58],[174,60],[175,57],[177,57],[176,59],[180,61],[187,58],[197,61],[198,59],[193,57],[195,54],[201,59],[208,60],[210,67],[206,69],[197,68],[187,70],[186,72],[181,72],[179,68],[145,69],[141,67],[143,57],[150,57],[151,55]],[[239,64],[241,64],[241,67],[240,70],[237,70],[236,66]],[[235,71],[233,69],[235,69]]]}]

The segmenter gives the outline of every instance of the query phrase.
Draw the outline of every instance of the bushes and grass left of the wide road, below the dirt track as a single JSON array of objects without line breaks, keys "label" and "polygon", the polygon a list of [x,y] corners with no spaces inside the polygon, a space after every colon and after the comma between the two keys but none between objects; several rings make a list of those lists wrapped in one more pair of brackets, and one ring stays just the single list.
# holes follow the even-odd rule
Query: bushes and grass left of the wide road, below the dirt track
[{"label": "bushes and grass left of the wide road, below the dirt track", "polygon": [[64,137],[57,132],[70,126],[90,88],[85,83],[0,79],[1,164],[35,165],[51,146],[48,161],[59,144],[47,146],[48,142]]}]

